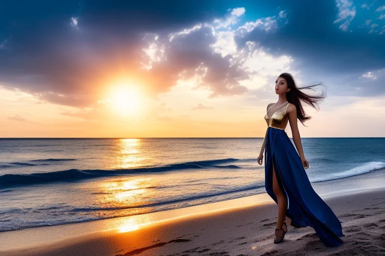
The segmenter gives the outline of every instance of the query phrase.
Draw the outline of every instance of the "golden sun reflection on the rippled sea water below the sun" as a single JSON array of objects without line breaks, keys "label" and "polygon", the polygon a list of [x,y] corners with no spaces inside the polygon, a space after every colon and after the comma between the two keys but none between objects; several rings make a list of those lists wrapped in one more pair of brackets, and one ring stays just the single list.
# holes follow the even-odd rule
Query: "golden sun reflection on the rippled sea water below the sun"
[{"label": "golden sun reflection on the rippled sea water below the sun", "polygon": [[95,213],[98,217],[130,216],[153,210],[152,204],[156,203],[157,198],[157,179],[135,168],[146,165],[143,163],[147,159],[143,156],[145,155],[143,143],[143,140],[138,138],[123,138],[116,141],[114,145],[116,153],[113,154],[110,166],[127,170],[122,170],[122,175],[116,178],[106,178],[97,184],[97,191],[93,194],[95,204],[101,208]]}]

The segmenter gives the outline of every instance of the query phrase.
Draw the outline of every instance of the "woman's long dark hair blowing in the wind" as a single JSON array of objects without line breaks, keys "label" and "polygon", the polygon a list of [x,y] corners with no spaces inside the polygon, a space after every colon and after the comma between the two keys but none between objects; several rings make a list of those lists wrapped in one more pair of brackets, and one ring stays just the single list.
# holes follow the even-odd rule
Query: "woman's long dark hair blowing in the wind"
[{"label": "woman's long dark hair blowing in the wind", "polygon": [[[287,82],[287,88],[290,88],[288,92],[286,92],[286,99],[289,103],[292,103],[295,105],[297,108],[297,118],[301,121],[303,124],[306,120],[311,119],[311,116],[305,116],[305,111],[303,110],[303,106],[301,103],[301,100],[307,103],[308,105],[311,105],[315,109],[318,102],[323,100],[326,97],[326,91],[322,91],[321,95],[311,95],[311,94],[306,94],[302,92],[301,90],[303,89],[311,89],[315,91],[312,87],[317,86],[317,85],[323,85],[321,83],[313,84],[313,85],[308,85],[308,86],[303,86],[303,87],[297,87],[294,78],[291,74],[289,73],[281,73],[279,77],[285,78]],[[305,124],[303,124],[306,126]]]}]

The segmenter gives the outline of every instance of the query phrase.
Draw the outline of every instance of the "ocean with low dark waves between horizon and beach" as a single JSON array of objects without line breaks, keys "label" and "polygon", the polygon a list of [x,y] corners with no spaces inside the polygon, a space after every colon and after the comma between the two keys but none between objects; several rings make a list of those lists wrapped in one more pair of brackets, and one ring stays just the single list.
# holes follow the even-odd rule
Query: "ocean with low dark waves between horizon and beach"
[{"label": "ocean with low dark waves between horizon and beach", "polygon": [[[382,137],[301,141],[311,182],[385,167]],[[262,142],[263,138],[2,138],[0,231],[264,193],[264,163],[257,163]]]}]

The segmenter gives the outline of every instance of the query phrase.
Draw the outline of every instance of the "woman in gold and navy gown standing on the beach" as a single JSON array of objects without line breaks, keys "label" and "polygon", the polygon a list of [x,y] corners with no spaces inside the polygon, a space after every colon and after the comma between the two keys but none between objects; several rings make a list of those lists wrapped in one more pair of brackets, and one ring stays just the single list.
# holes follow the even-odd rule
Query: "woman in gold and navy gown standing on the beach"
[{"label": "woman in gold and navy gown standing on the beach", "polygon": [[[345,236],[338,218],[313,190],[305,170],[309,162],[302,150],[297,118],[303,124],[311,116],[305,116],[300,100],[315,107],[314,103],[324,96],[309,95],[300,89],[313,89],[311,87],[316,85],[298,88],[291,74],[282,73],[275,84],[278,101],[267,105],[268,128],[258,163],[262,164],[265,150],[265,187],[278,204],[274,243],[280,243],[287,232],[285,216],[291,219],[290,225],[294,227],[313,227],[326,246],[342,244],[339,236]],[[298,152],[285,132],[288,121]]]}]

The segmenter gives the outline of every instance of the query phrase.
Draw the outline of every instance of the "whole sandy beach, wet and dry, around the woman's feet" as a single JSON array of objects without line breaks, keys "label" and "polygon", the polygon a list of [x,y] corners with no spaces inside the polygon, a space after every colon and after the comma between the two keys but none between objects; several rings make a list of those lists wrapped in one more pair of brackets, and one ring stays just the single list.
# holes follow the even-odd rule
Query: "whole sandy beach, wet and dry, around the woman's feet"
[{"label": "whole sandy beach, wet and dry, around the woman's feet", "polygon": [[[277,206],[264,193],[129,217],[2,232],[1,255],[385,255],[385,188],[362,185],[382,174],[313,184],[315,190],[346,188],[321,195],[345,234],[344,243],[334,248],[324,246],[310,226],[290,226],[289,218],[284,241],[274,244]],[[352,189],[354,183],[361,186]]]}]

